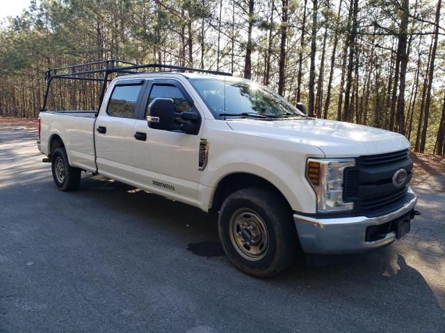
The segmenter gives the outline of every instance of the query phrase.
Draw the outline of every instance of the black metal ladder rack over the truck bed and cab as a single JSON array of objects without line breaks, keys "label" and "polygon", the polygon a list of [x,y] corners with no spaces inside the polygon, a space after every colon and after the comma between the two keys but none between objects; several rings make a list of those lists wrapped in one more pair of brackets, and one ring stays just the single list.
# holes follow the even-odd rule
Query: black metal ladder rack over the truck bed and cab
[{"label": "black metal ladder rack over the truck bed and cab", "polygon": [[[118,66],[118,64],[122,64]],[[90,68],[92,66],[99,67],[98,69],[86,69]],[[143,74],[146,72],[136,71],[136,69],[170,69],[171,71],[190,71],[190,72],[198,72],[198,73],[206,73],[206,74],[216,74],[216,75],[225,75],[225,76],[232,76],[231,73],[227,73],[225,71],[210,71],[207,69],[197,69],[192,67],[182,67],[182,66],[174,66],[174,65],[163,65],[163,64],[144,64],[144,65],[137,65],[133,62],[128,62],[125,60],[119,60],[119,59],[110,59],[110,60],[101,60],[101,61],[95,61],[95,62],[87,62],[85,64],[79,64],[79,65],[71,65],[71,66],[64,66],[64,67],[57,67],[49,69],[46,72],[46,80],[47,80],[47,89],[44,94],[43,99],[43,105],[42,109],[40,109],[40,112],[46,111],[47,107],[47,100],[48,100],[48,94],[49,94],[49,88],[51,86],[51,82],[54,78],[58,79],[67,79],[67,80],[89,80],[89,81],[102,81],[102,88],[100,93],[100,99],[99,99],[99,107],[97,110],[100,109],[100,105],[102,105],[102,101],[104,99],[104,94],[106,90],[106,83],[110,81],[108,76],[112,73],[118,73],[118,74]],[[91,77],[91,74],[103,74],[102,78],[97,77]]]}]

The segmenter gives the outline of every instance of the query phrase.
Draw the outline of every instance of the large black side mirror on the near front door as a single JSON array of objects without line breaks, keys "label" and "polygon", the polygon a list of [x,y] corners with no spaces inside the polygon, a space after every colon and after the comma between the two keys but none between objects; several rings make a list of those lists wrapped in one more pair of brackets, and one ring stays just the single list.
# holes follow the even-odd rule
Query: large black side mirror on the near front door
[{"label": "large black side mirror on the near front door", "polygon": [[156,130],[172,130],[175,127],[173,117],[175,114],[175,103],[172,99],[154,99],[148,105],[147,123],[150,128]]}]

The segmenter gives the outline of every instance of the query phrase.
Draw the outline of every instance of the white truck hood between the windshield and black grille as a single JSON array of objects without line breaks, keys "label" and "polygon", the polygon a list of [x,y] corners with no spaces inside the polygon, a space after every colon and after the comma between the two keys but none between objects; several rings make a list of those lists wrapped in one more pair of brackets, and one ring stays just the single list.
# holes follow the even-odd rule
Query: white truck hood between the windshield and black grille
[{"label": "white truck hood between the windshield and black grille", "polygon": [[273,121],[234,119],[227,121],[227,124],[235,131],[250,135],[318,146],[326,157],[374,155],[410,147],[410,142],[398,133],[340,121],[315,118]]}]

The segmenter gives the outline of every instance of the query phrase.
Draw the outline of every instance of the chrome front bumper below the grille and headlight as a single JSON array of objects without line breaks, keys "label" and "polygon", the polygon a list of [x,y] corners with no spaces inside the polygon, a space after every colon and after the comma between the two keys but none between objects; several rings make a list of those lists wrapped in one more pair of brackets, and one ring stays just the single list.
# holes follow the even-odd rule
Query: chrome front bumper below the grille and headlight
[{"label": "chrome front bumper below the grille and headlight", "polygon": [[385,237],[376,241],[366,241],[366,228],[382,225],[405,215],[411,219],[417,198],[411,189],[408,193],[411,198],[407,203],[394,212],[380,216],[320,218],[293,214],[302,249],[305,253],[345,254],[365,252],[392,243],[397,238],[396,232],[388,232]]}]

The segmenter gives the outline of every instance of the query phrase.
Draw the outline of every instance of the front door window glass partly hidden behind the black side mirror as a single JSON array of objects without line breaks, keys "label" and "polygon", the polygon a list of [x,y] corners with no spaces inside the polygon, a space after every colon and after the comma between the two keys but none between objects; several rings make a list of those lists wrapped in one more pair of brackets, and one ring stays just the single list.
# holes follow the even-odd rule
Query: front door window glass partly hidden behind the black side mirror
[{"label": "front door window glass partly hidden behind the black side mirror", "polygon": [[[182,112],[192,112],[193,110],[192,106],[186,99],[186,96],[184,96],[183,92],[181,92],[181,89],[175,85],[153,85],[148,99],[147,108],[154,99],[159,97],[172,99],[173,103],[175,103],[175,125],[180,126],[182,123],[184,123],[184,120],[181,119]],[[147,115],[149,114],[147,113]]]}]

